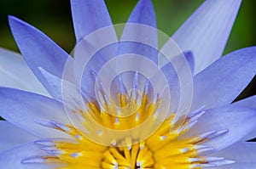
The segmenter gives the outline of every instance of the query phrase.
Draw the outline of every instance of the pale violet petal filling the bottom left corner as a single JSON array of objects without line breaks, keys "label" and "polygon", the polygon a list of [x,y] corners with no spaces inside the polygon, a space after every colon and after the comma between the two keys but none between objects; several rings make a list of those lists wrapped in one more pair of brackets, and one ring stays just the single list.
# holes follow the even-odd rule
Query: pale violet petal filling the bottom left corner
[{"label": "pale violet petal filling the bottom left corner", "polygon": [[24,164],[21,161],[27,157],[46,155],[46,153],[39,149],[36,144],[29,143],[23,144],[14,149],[9,149],[0,153],[0,164],[1,168],[4,166],[4,169],[51,169],[53,166],[30,163]]}]

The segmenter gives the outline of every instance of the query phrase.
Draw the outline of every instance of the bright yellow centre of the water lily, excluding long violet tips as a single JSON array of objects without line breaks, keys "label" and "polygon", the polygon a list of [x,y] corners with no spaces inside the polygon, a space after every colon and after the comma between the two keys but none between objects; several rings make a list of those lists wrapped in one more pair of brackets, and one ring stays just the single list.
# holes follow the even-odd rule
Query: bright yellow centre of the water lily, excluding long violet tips
[{"label": "bright yellow centre of the water lily, excluding long violet tips", "polygon": [[[137,93],[132,94],[135,96]],[[88,109],[86,111],[77,110],[74,113],[84,119],[84,128],[89,132],[93,130],[90,128],[90,121],[96,121],[110,129],[130,129],[142,124],[149,116],[153,116],[153,119],[157,117],[156,111],[160,100],[154,103],[150,102],[146,93],[143,93],[140,99],[120,94],[120,107],[117,109],[113,100],[105,96],[105,102],[102,102],[101,105],[90,100],[87,103]],[[136,110],[136,112],[128,115],[129,110]],[[108,114],[108,111],[111,111],[112,114]],[[201,168],[200,165],[206,164],[207,161],[204,157],[199,156],[198,149],[200,147],[197,144],[206,141],[206,138],[196,136],[178,139],[189,130],[189,117],[183,122],[177,121],[175,123],[173,122],[174,118],[174,114],[169,115],[161,126],[145,140],[137,141],[133,140],[134,138],[126,137],[122,140],[113,140],[113,146],[97,144],[84,137],[78,128],[70,125],[55,127],[55,129],[73,136],[76,142],[53,141],[53,148],[60,152],[44,156],[44,159],[48,164],[58,165],[55,169]],[[97,133],[99,137],[108,135],[102,131]],[[125,146],[115,146],[121,142],[124,142]]]}]

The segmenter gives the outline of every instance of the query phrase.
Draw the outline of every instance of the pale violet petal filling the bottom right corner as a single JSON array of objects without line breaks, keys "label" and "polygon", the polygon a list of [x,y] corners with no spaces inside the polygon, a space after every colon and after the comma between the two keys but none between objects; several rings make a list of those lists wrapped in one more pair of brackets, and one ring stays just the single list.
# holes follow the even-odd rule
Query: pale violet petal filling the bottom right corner
[{"label": "pale violet petal filling the bottom right corner", "polygon": [[[239,142],[214,154],[224,157],[227,160],[236,161],[228,166],[221,166],[221,169],[248,169],[256,167],[256,143]],[[213,169],[213,168],[212,168]]]}]

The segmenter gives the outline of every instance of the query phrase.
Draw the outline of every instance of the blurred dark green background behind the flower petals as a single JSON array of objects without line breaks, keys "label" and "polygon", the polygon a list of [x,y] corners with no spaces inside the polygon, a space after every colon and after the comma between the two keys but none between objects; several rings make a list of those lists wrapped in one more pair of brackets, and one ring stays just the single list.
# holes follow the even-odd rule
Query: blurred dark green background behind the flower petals
[{"label": "blurred dark green background behind the flower petals", "polygon": [[[200,6],[203,0],[153,0],[158,29],[173,32]],[[125,23],[137,0],[106,0],[114,24]],[[244,0],[224,54],[256,45],[256,2]],[[44,31],[67,52],[75,44],[69,0],[0,0],[0,47],[19,51],[9,31],[8,14]],[[255,79],[255,78],[254,78]],[[256,93],[256,82],[247,87],[241,98]]]}]

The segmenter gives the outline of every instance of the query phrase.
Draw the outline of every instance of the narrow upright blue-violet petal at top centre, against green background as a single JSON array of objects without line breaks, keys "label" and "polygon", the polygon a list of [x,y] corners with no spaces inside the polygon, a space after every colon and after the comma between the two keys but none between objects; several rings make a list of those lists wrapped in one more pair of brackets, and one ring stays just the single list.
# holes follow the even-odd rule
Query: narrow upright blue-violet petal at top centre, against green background
[{"label": "narrow upright blue-violet petal at top centre, against green background", "polygon": [[140,54],[157,64],[158,37],[154,28],[156,19],[153,3],[151,0],[139,1],[125,25],[120,39],[119,54]]}]

